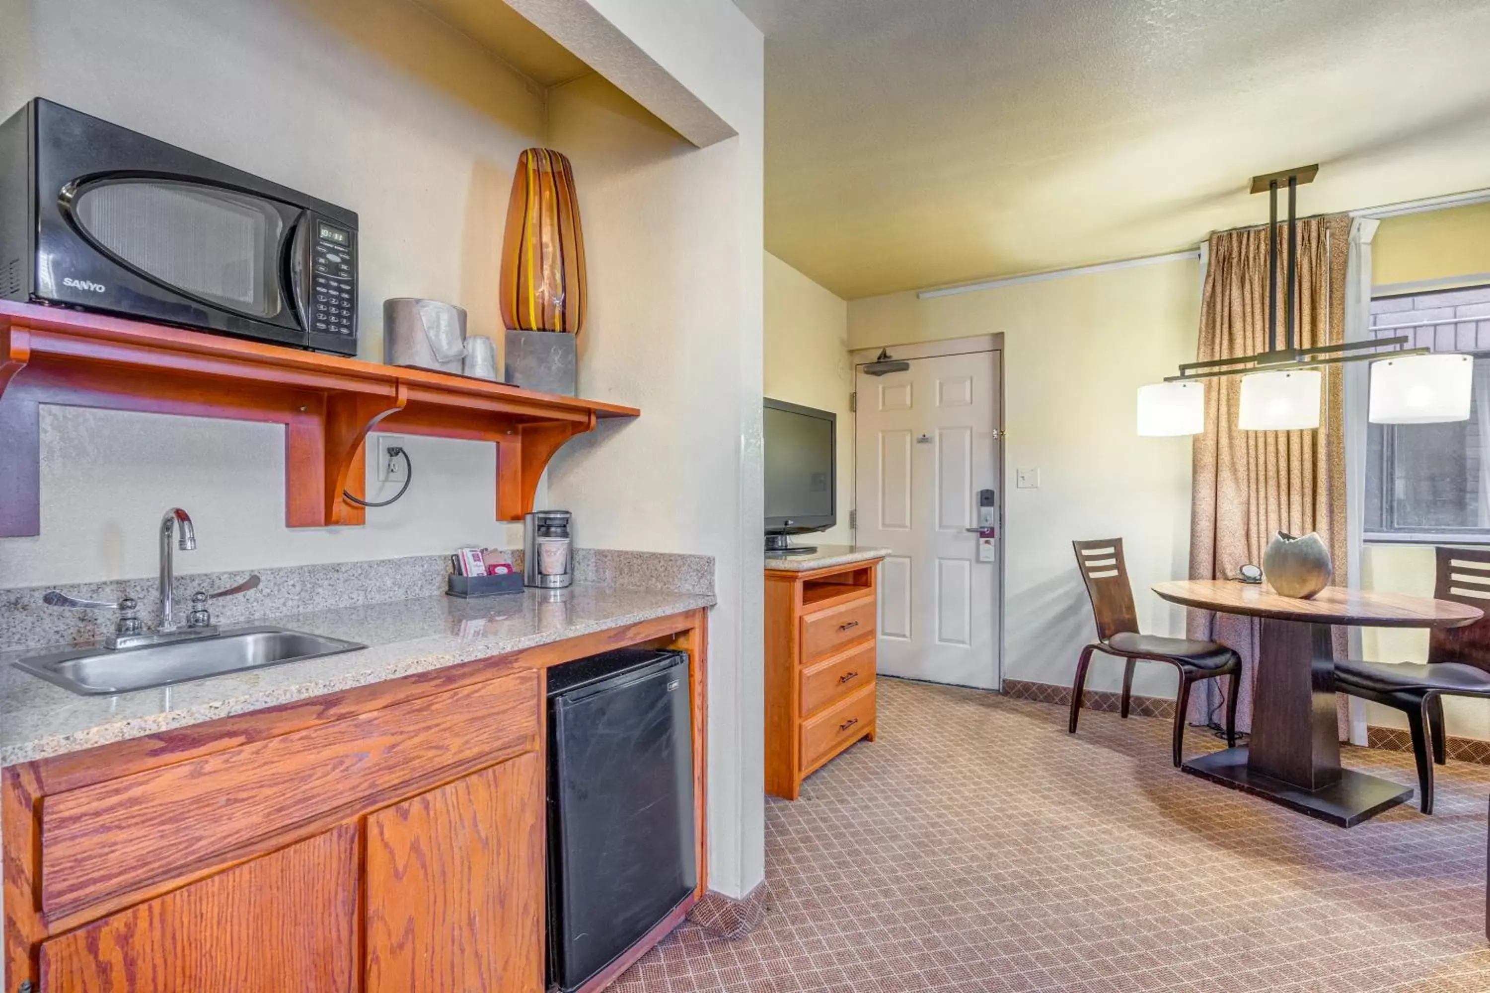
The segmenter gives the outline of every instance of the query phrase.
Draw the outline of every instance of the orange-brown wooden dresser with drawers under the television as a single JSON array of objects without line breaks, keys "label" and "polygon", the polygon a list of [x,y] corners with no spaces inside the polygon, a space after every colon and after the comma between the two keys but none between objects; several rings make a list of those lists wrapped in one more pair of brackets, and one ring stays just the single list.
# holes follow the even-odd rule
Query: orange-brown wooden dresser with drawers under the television
[{"label": "orange-brown wooden dresser with drawers under the television", "polygon": [[802,780],[860,738],[875,740],[876,567],[766,560],[766,792]]}]

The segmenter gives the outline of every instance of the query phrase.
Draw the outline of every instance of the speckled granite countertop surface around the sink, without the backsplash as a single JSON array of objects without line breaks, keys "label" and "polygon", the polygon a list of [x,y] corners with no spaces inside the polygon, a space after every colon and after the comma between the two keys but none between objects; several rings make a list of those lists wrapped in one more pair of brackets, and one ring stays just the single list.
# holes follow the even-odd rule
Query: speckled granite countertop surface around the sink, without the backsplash
[{"label": "speckled granite countertop surface around the sink, without the backsplash", "polygon": [[112,697],[82,697],[0,654],[0,765],[77,752],[168,728],[261,710],[535,645],[714,606],[709,594],[574,585],[560,591],[457,600],[432,596],[261,618],[365,649]]}]

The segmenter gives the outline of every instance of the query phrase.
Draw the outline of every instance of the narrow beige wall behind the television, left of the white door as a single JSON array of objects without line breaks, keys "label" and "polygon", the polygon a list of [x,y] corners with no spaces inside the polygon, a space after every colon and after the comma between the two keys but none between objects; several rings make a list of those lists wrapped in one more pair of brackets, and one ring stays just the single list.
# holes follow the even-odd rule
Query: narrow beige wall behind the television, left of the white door
[{"label": "narrow beige wall behind the television, left of the white door", "polygon": [[802,539],[848,545],[854,506],[854,374],[848,304],[766,253],[766,396],[837,414],[837,526]]}]

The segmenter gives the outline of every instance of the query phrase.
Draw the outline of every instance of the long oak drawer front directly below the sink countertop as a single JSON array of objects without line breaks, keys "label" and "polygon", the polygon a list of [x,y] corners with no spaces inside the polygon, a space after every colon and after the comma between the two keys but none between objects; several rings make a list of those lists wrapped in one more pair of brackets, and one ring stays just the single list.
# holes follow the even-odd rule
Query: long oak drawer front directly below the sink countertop
[{"label": "long oak drawer front directly below the sink countertop", "polygon": [[48,796],[42,910],[64,916],[297,825],[536,752],[538,673],[420,697]]}]

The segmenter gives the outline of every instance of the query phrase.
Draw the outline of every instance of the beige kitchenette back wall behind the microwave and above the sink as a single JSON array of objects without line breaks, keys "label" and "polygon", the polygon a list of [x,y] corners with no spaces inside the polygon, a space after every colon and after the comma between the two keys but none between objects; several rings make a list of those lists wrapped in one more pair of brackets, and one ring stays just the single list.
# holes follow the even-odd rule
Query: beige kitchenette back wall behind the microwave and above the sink
[{"label": "beige kitchenette back wall behind the microwave and above the sink", "polygon": [[[0,24],[30,54],[0,64],[0,115],[45,95],[356,210],[361,357],[383,357],[387,296],[498,329],[511,170],[544,140],[544,95],[444,22],[407,0],[0,0]],[[520,542],[493,520],[493,445],[407,448],[408,494],[367,527],[291,530],[282,427],[46,406],[42,534],[0,540],[0,587],[149,576],[177,503],[201,539],[186,572]]]}]

